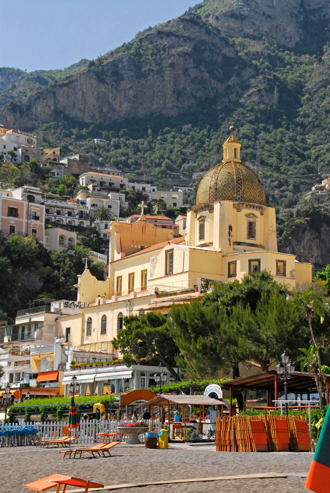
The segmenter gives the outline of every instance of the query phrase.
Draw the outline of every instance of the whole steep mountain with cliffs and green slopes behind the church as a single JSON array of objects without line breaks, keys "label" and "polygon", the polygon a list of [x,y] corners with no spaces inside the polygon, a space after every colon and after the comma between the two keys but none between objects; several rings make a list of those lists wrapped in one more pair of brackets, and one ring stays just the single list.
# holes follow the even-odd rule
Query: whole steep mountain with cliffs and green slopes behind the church
[{"label": "whole steep mountain with cliffs and green slopes behind the church", "polygon": [[[61,73],[1,69],[1,101],[11,103],[0,121],[24,122],[43,147],[167,186],[178,184],[168,172],[192,185],[193,172],[217,164],[234,123],[253,169],[259,144],[256,171],[277,211],[279,248],[325,265],[330,249],[316,235],[321,224],[321,236],[330,231],[329,192],[305,195],[330,172],[329,21],[329,0],[279,0],[278,8],[206,0]],[[186,201],[194,200],[190,192]]]}]

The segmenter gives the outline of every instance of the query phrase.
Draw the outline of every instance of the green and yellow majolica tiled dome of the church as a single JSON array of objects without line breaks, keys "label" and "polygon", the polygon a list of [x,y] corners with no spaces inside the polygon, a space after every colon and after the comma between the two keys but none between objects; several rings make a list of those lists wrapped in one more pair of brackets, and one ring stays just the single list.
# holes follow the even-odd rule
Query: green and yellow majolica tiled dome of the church
[{"label": "green and yellow majolica tiled dome of the church", "polygon": [[266,196],[261,181],[250,168],[241,162],[225,161],[201,179],[196,205],[219,200],[265,205]]}]

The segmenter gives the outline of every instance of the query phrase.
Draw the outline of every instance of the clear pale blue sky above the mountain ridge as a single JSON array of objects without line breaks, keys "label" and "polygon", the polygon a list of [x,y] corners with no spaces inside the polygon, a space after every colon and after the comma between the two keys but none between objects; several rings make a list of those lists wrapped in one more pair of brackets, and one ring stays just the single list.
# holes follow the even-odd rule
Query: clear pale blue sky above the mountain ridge
[{"label": "clear pale blue sky above the mountain ridge", "polygon": [[96,59],[200,1],[1,1],[1,38],[6,41],[0,67],[30,72],[64,69],[82,58]]}]

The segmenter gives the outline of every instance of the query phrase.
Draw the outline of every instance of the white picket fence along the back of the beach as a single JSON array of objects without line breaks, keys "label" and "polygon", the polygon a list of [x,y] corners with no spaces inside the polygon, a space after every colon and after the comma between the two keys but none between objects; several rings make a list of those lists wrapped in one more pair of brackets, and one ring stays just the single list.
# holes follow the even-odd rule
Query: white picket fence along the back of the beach
[{"label": "white picket fence along the back of the beach", "polygon": [[[90,420],[90,421],[80,421],[79,433],[75,431],[72,432],[73,436],[78,436],[75,443],[96,443],[100,440],[98,433],[115,433],[117,432],[117,427],[122,423],[128,423],[126,421],[116,421],[116,420]],[[151,420],[147,421],[150,425]],[[22,428],[37,428],[39,430],[39,436],[41,440],[54,440],[62,436],[62,426],[67,426],[67,422],[54,421],[54,422],[31,422],[24,423],[24,420],[19,420],[19,424],[6,424],[0,427],[1,430],[14,430]],[[146,428],[146,431],[148,428]],[[159,431],[159,420],[153,420],[153,431]],[[125,435],[123,436],[125,440]]]}]

